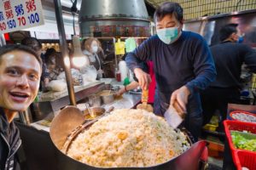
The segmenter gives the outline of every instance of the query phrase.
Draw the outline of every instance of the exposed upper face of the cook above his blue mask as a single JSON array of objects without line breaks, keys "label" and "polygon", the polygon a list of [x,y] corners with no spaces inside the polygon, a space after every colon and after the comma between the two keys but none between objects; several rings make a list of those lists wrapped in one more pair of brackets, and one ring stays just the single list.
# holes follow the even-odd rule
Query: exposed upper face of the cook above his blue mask
[{"label": "exposed upper face of the cook above his blue mask", "polygon": [[180,32],[183,28],[183,23],[180,23],[174,14],[166,14],[162,18],[162,20],[156,21],[155,23],[156,29],[163,29],[163,28],[171,28],[171,27],[177,27],[178,32]]}]

